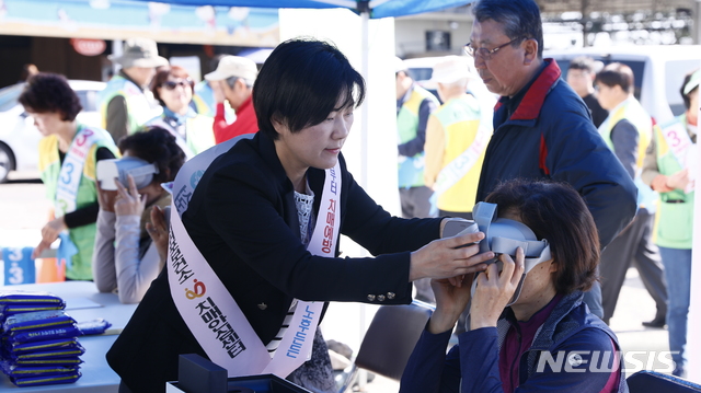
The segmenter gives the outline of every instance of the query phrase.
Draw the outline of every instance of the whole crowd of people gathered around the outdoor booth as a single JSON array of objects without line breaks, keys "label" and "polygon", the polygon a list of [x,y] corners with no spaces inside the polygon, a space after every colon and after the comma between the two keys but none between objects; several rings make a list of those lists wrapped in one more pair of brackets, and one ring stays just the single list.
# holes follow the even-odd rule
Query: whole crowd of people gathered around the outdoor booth
[{"label": "whole crowd of people gathered around the outdoor booth", "polygon": [[[139,303],[107,352],[120,392],[163,391],[191,352],[333,392],[317,330],[329,302],[414,297],[436,311],[402,392],[622,392],[608,323],[631,265],[656,303],[644,325],[668,326],[685,374],[701,71],[681,86],[687,112],[657,125],[628,66],[578,58],[563,76],[543,58],[535,1],[478,0],[471,12],[467,56],[433,69],[438,96],[395,58],[402,218],[346,167],[367,88],[326,42],[284,42],[260,71],[220,56],[195,84],[154,42],[128,39],[111,57],[120,70],[100,96],[102,128],[77,122],[64,77],[27,79],[20,103],[45,137],[55,205],[34,255],[60,238],[67,279]],[[486,226],[520,228],[547,252],[497,252],[487,227],[443,239],[478,206],[494,206]],[[340,234],[374,257],[338,257]],[[309,339],[290,347],[299,321]],[[537,368],[547,351],[611,354],[611,371]]]}]

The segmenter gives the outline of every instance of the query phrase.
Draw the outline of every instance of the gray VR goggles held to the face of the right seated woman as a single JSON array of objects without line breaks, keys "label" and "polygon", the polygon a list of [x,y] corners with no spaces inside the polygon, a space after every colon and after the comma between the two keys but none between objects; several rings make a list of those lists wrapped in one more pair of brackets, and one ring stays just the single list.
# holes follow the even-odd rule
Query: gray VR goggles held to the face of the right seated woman
[{"label": "gray VR goggles held to the face of the right seated woman", "polygon": [[[522,222],[496,217],[496,204],[479,203],[472,209],[474,221],[462,221],[458,226],[462,228],[455,235],[483,232],[484,239],[480,242],[480,253],[489,251],[499,254],[508,254],[516,259],[516,248],[524,248],[526,258],[524,261],[524,276],[514,292],[514,297],[507,305],[512,305],[521,293],[526,275],[541,262],[552,259],[550,254],[550,244],[547,240],[538,240],[533,231]],[[455,227],[455,224],[453,224]],[[455,230],[453,230],[455,233]],[[444,236],[451,236],[444,229]],[[498,270],[502,271],[502,262],[498,258],[487,261],[486,264],[496,263]],[[476,279],[472,282],[472,294],[476,288]]]}]

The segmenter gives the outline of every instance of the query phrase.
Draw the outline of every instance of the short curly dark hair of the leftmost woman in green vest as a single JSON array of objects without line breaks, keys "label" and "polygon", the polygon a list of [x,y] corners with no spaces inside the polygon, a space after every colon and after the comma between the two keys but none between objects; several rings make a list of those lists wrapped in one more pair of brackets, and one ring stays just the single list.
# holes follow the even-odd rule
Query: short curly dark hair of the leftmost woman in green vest
[{"label": "short curly dark hair of the leftmost woman in green vest", "polygon": [[66,77],[50,72],[30,77],[18,101],[28,112],[59,113],[64,122],[74,120],[83,109]]}]

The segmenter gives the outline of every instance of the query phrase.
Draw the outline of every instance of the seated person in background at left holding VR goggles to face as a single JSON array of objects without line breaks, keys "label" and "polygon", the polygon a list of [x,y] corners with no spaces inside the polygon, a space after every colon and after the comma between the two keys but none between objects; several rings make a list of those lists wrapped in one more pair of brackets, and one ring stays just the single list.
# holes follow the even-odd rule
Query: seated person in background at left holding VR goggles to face
[{"label": "seated person in background at left holding VR goggles to face", "polygon": [[170,206],[171,195],[161,183],[175,178],[185,154],[177,147],[175,137],[162,128],[123,138],[119,151],[123,160],[137,162],[133,164],[136,165],[131,171],[135,175],[138,173],[135,170],[140,167],[134,159],[140,160],[141,167],[151,164],[156,167],[147,171],[148,175],[136,175],[136,178],[131,174],[120,175],[126,182],[114,180],[116,190],[99,189],[100,212],[92,269],[97,290],[116,291],[120,302],[137,303],[165,262],[148,233],[153,229],[151,210]]}]

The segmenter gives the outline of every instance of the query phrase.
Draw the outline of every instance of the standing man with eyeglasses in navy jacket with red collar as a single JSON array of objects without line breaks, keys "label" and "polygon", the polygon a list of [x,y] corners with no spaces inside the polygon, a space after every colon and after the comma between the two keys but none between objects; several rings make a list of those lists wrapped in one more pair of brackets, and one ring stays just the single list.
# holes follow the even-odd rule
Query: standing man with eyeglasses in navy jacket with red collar
[{"label": "standing man with eyeglasses in navy jacket with red collar", "polygon": [[[476,201],[512,178],[568,183],[586,200],[602,248],[635,216],[636,188],[597,132],[584,102],[561,79],[555,60],[542,58],[538,5],[533,0],[479,0],[472,13],[464,49],[474,57],[487,89],[501,95]],[[604,314],[598,285],[584,301],[593,313]]]}]

